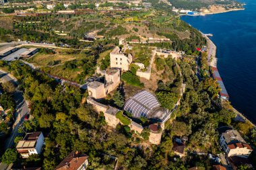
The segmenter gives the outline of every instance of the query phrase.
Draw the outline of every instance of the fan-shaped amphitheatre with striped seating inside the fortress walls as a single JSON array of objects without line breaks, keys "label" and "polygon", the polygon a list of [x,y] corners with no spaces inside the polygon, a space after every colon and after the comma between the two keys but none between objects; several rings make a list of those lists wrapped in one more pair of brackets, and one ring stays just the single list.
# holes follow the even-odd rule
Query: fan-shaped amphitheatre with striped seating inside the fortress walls
[{"label": "fan-shaped amphitheatre with striped seating inside the fortress walls", "polygon": [[156,96],[146,90],[130,97],[125,102],[124,110],[131,113],[134,118],[145,117],[157,122],[166,121],[166,116],[170,114],[167,109],[161,107]]}]

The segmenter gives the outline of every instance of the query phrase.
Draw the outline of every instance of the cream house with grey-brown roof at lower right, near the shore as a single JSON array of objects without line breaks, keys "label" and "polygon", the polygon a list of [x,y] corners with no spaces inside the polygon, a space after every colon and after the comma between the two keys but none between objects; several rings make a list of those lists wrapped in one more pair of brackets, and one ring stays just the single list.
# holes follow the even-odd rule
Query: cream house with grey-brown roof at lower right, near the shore
[{"label": "cream house with grey-brown roof at lower right, near the shore", "polygon": [[228,157],[249,157],[253,149],[236,130],[226,130],[220,136],[220,146]]}]

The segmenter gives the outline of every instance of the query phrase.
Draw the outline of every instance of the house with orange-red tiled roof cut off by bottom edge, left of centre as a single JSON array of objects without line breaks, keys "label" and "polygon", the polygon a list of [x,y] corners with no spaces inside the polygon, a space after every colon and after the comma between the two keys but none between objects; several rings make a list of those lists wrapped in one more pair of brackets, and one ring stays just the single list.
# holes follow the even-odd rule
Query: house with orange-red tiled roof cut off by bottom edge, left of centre
[{"label": "house with orange-red tiled roof cut off by bottom edge, left of centre", "polygon": [[78,151],[72,151],[55,170],[84,170],[88,167],[88,156]]}]

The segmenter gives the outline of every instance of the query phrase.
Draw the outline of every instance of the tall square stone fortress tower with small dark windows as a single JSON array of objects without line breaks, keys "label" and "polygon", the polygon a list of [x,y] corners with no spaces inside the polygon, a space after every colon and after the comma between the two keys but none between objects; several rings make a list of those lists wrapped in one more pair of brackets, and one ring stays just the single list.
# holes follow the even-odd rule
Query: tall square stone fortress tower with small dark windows
[{"label": "tall square stone fortress tower with small dark windows", "polygon": [[110,68],[119,68],[122,71],[129,71],[129,65],[133,60],[131,54],[125,54],[127,48],[119,48],[117,46],[110,52]]}]

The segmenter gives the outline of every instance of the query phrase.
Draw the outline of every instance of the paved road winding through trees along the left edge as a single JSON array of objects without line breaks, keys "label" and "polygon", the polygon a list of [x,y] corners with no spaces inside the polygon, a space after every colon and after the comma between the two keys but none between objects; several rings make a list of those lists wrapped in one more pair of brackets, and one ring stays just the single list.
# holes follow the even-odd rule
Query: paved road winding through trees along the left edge
[{"label": "paved road winding through trees along the left edge", "polygon": [[[4,75],[3,77],[1,77]],[[13,81],[17,83],[17,81],[14,79],[14,77],[11,77],[8,75],[5,71],[0,71],[0,77],[3,79],[3,81]],[[5,140],[5,150],[7,148],[11,148],[14,144],[14,139],[18,135],[18,127],[22,124],[24,121],[25,114],[30,113],[30,109],[28,108],[28,104],[26,103],[22,91],[16,90],[14,93],[14,98],[16,102],[16,112],[14,114],[15,122],[13,124],[13,130],[11,131],[11,134],[9,134],[9,137]]]}]

